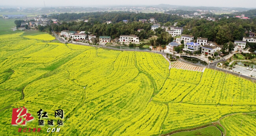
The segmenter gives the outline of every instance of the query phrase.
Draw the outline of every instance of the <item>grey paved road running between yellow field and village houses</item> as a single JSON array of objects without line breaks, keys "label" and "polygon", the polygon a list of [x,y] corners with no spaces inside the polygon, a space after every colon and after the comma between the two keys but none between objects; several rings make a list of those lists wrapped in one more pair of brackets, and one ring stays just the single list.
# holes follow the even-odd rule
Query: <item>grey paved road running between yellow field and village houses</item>
[{"label": "grey paved road running between yellow field and village houses", "polygon": [[[52,31],[52,33],[54,34],[54,36],[56,37],[56,39],[60,42],[65,42],[63,39],[59,38],[58,35]],[[70,42],[72,43],[72,42]],[[74,43],[72,43],[74,44]],[[84,45],[84,44],[78,44],[78,45]],[[94,47],[93,45],[84,45],[84,46],[90,46],[90,47]],[[97,45],[96,47],[102,47],[102,48],[106,48],[106,49],[110,49],[110,50],[120,50],[120,49],[117,49],[117,48],[113,48],[113,47],[108,47],[108,46],[105,46],[105,45]],[[159,51],[151,51],[151,50],[126,50],[126,49],[122,49],[122,50],[125,50],[125,51],[140,51],[140,52],[150,52],[150,53],[158,53],[158,54],[161,54],[161,55],[164,55],[166,56],[166,53],[163,53],[163,52],[159,52]],[[175,56],[176,57],[176,56]],[[187,61],[184,61],[182,59],[179,59],[180,61],[183,61],[183,62],[186,62],[186,63],[189,63]],[[229,71],[229,70],[225,70],[225,69],[221,69],[221,68],[218,68],[216,67],[217,64],[221,61],[226,61],[226,59],[222,59],[222,60],[219,60],[217,62],[213,62],[213,63],[209,63],[209,66],[202,66],[202,65],[199,65],[201,67],[209,67],[211,69],[217,69],[219,71],[222,71],[222,72],[227,72],[227,73],[230,73],[230,74],[233,74],[233,75],[237,75],[237,76],[241,76],[243,78],[248,78],[248,79],[251,79],[251,80],[256,80],[256,78],[253,78],[253,77],[250,77],[250,76],[246,76],[246,75],[240,75],[239,73],[236,73],[236,72],[232,72],[232,71]],[[193,63],[189,63],[189,64],[192,64],[192,65],[195,65],[195,66],[198,66],[197,64],[193,64]]]}]

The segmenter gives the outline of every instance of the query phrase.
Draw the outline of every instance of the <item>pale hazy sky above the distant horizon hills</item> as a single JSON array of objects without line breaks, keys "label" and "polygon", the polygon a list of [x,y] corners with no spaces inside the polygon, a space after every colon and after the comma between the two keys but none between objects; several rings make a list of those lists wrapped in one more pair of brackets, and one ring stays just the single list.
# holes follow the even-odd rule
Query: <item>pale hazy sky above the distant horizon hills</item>
[{"label": "pale hazy sky above the distant horizon hills", "polygon": [[256,8],[256,0],[0,0],[1,6],[18,7],[158,5]]}]

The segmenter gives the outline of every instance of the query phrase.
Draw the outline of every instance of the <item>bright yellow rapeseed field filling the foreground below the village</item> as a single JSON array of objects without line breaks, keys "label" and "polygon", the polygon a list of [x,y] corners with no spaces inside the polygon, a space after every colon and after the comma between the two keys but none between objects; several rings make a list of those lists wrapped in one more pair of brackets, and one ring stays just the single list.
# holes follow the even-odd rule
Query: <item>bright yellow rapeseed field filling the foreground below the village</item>
[{"label": "bright yellow rapeseed field filling the foreground below the village", "polygon": [[[26,127],[41,128],[42,136],[50,135],[48,128],[61,128],[51,134],[58,136],[151,136],[256,111],[256,84],[250,80],[212,69],[169,70],[156,53],[49,42],[53,39],[0,36],[1,135],[19,135],[18,128]],[[11,125],[12,108],[23,106],[35,119]],[[48,115],[44,125],[38,125],[40,109]],[[54,117],[58,109],[64,111],[62,126]],[[253,117],[238,114],[221,123],[227,136],[253,135]],[[240,120],[247,132],[239,130]]]}]

